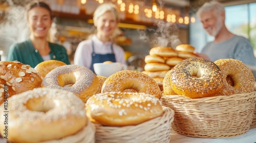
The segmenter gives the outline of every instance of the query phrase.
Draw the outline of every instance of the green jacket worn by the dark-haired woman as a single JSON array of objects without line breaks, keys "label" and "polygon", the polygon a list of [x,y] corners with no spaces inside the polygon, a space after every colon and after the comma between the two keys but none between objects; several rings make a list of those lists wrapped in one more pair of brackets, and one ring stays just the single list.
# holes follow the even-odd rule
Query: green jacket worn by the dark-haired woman
[{"label": "green jacket worn by the dark-haired woman", "polygon": [[[51,42],[49,42],[49,47],[51,49],[51,52],[49,53],[51,60],[58,60],[70,64],[65,47]],[[38,63],[44,61],[39,52],[34,48],[30,39],[11,45],[6,60],[16,60],[23,64],[28,64],[31,67],[35,67]]]}]

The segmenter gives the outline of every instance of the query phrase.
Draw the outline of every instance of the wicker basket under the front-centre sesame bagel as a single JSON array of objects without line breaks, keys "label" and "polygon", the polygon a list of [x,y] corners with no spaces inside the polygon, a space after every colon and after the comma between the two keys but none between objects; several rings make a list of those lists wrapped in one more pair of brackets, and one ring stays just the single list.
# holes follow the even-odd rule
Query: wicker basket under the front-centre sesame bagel
[{"label": "wicker basket under the front-centre sesame bagel", "polygon": [[96,142],[169,143],[174,111],[167,107],[163,107],[163,110],[162,116],[136,126],[107,127],[95,124]]}]

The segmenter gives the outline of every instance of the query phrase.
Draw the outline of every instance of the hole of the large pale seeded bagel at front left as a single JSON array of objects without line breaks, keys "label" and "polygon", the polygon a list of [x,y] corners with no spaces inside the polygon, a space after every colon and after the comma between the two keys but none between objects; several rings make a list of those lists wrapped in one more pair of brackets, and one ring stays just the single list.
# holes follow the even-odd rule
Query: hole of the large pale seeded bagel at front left
[{"label": "hole of the large pale seeded bagel at front left", "polygon": [[30,99],[25,106],[28,110],[37,112],[48,112],[55,107],[55,103],[52,99],[44,97]]}]

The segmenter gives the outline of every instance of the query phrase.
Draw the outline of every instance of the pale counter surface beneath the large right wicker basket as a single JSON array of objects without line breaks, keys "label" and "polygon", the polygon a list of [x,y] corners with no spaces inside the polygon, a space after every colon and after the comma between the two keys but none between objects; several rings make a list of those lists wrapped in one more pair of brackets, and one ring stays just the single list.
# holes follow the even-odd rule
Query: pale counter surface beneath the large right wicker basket
[{"label": "pale counter surface beneath the large right wicker basket", "polygon": [[200,142],[210,142],[210,143],[253,143],[256,142],[256,125],[251,125],[249,131],[245,134],[234,136],[234,137],[226,137],[226,138],[199,138],[199,137],[188,137],[182,134],[178,134],[175,131],[171,131],[170,133],[170,142],[172,143],[200,143]]}]

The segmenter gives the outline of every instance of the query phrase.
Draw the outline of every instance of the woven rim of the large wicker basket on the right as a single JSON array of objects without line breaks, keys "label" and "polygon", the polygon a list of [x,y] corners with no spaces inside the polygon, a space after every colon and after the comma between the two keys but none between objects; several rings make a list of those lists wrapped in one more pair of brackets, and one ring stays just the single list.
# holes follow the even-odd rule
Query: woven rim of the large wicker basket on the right
[{"label": "woven rim of the large wicker basket on the right", "polygon": [[[205,102],[205,103],[217,103],[221,100],[240,100],[243,99],[244,96],[256,96],[256,94],[253,94],[255,91],[249,92],[249,93],[241,93],[241,94],[232,94],[230,96],[216,96],[216,97],[205,97],[205,98],[198,98],[198,99],[191,99],[185,96],[180,95],[164,95],[161,97],[161,99],[172,99],[172,100],[182,100],[187,102]],[[240,98],[238,98],[240,97]],[[256,99],[255,99],[256,100]]]}]

